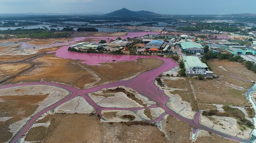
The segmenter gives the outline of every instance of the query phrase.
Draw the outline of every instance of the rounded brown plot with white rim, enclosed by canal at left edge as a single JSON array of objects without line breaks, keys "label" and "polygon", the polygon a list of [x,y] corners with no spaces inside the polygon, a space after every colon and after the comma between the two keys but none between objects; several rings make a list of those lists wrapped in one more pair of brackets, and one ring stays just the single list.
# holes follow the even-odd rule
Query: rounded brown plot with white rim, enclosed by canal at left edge
[{"label": "rounded brown plot with white rim, enclosed by canal at left edge", "polygon": [[[30,117],[69,94],[54,86],[22,86],[0,90],[0,142],[10,140]],[[56,96],[59,95],[59,96]]]}]

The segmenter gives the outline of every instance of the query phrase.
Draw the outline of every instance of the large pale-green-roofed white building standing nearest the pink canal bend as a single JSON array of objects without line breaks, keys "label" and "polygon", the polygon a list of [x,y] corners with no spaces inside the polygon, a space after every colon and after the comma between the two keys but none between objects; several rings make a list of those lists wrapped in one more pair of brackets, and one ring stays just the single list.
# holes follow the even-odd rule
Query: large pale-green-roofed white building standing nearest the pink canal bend
[{"label": "large pale-green-roofed white building standing nearest the pink canal bend", "polygon": [[213,77],[213,72],[209,71],[208,66],[202,63],[199,57],[182,55],[182,59],[187,76],[198,76],[198,74],[201,74],[204,77]]}]

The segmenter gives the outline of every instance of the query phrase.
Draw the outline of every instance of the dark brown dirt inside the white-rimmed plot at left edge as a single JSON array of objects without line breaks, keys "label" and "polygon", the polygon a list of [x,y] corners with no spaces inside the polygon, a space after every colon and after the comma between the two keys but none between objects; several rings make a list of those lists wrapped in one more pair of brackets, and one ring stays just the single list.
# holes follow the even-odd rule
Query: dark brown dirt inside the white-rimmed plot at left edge
[{"label": "dark brown dirt inside the white-rimmed plot at left edge", "polygon": [[[19,92],[19,91],[16,91]],[[47,98],[45,95],[0,96],[0,117],[10,117],[5,122],[0,121],[0,142],[12,138],[9,126],[22,118],[31,116],[38,108],[37,103]]]}]

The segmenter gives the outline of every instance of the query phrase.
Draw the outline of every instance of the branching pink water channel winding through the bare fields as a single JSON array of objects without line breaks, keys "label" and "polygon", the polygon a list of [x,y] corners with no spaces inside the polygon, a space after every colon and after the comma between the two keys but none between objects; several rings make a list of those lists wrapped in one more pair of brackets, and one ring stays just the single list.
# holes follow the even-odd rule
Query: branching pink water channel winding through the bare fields
[{"label": "branching pink water channel winding through the bare fields", "polygon": [[[127,36],[129,36],[129,35],[127,35]],[[81,38],[81,39],[83,39],[83,38]],[[62,58],[68,58],[68,59],[86,60],[85,63],[90,64],[90,65],[97,65],[99,63],[112,61],[112,60],[116,60],[116,61],[135,61],[138,58],[149,57],[149,56],[113,56],[113,55],[105,55],[105,54],[75,53],[75,52],[67,51],[67,47],[68,46],[64,46],[61,49],[55,51],[56,56],[62,57]],[[254,140],[254,136],[251,137],[250,139],[244,140],[244,139],[236,138],[234,136],[229,136],[229,135],[226,135],[224,133],[220,133],[218,131],[212,130],[212,129],[207,128],[205,126],[202,126],[201,124],[198,123],[199,116],[200,116],[199,113],[197,113],[195,119],[191,120],[191,119],[187,119],[187,118],[184,118],[184,117],[180,116],[179,114],[175,113],[170,108],[168,108],[166,106],[166,103],[169,101],[170,98],[168,98],[163,93],[163,91],[160,91],[158,89],[158,87],[154,85],[154,81],[155,81],[155,78],[159,74],[163,73],[164,71],[168,71],[168,70],[172,69],[173,67],[177,66],[177,63],[175,61],[173,61],[172,59],[168,59],[168,58],[163,58],[163,57],[155,57],[155,58],[162,59],[164,61],[164,64],[162,66],[156,68],[156,69],[153,69],[151,71],[147,71],[147,72],[144,72],[144,73],[138,75],[137,77],[131,79],[131,81],[112,82],[112,83],[109,83],[109,84],[105,84],[105,85],[97,86],[97,87],[92,87],[92,88],[89,88],[89,89],[77,89],[75,87],[71,87],[71,86],[64,85],[64,84],[58,84],[58,83],[54,83],[54,82],[43,82],[43,81],[40,81],[40,82],[37,82],[37,83],[24,83],[24,84],[13,84],[13,85],[9,84],[7,86],[0,86],[0,89],[4,89],[4,88],[9,88],[9,87],[28,86],[28,85],[50,85],[50,86],[61,87],[61,88],[64,88],[64,89],[67,89],[67,90],[71,91],[71,95],[67,96],[66,98],[62,99],[61,101],[58,101],[57,103],[52,103],[51,106],[49,106],[49,107],[43,109],[42,111],[40,111],[39,113],[35,114],[31,118],[31,120],[29,120],[28,123],[24,126],[24,128],[22,128],[17,133],[17,135],[14,136],[14,138],[12,139],[11,142],[12,143],[17,142],[19,140],[19,138],[33,125],[33,123],[36,121],[36,119],[38,119],[43,113],[47,112],[48,110],[54,110],[54,108],[56,108],[57,106],[59,106],[60,104],[62,104],[64,102],[68,101],[69,99],[74,98],[75,96],[83,96],[86,99],[86,101],[88,101],[88,103],[90,103],[97,110],[97,113],[100,116],[101,116],[101,111],[104,110],[104,109],[113,109],[113,110],[115,110],[115,109],[118,109],[118,110],[145,109],[145,108],[104,108],[104,107],[98,106],[87,95],[87,93],[96,92],[96,91],[99,91],[99,90],[104,89],[104,88],[118,87],[118,86],[130,87],[130,88],[134,89],[135,91],[137,91],[138,93],[148,97],[150,100],[156,102],[156,104],[154,104],[150,107],[147,107],[147,108],[160,107],[160,108],[163,108],[165,110],[165,113],[163,115],[161,115],[156,120],[152,120],[152,122],[153,121],[159,122],[163,118],[164,115],[170,114],[171,116],[173,116],[173,117],[191,125],[194,129],[209,131],[211,133],[223,136],[225,138],[230,138],[232,140],[241,141],[241,142],[251,142],[251,141]],[[195,132],[195,130],[193,132]]]}]

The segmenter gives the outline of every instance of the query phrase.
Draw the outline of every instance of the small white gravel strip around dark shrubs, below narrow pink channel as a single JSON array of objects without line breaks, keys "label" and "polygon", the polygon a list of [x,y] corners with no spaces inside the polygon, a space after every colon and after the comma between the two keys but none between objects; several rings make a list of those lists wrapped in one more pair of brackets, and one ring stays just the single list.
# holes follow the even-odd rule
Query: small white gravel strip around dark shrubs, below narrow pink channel
[{"label": "small white gravel strip around dark shrubs, below narrow pink channel", "polygon": [[[116,113],[116,117],[112,117],[112,118],[105,118],[104,117],[104,113],[106,112],[117,112]],[[103,115],[104,119],[100,119],[100,122],[128,122],[130,121],[130,119],[122,119],[121,116],[125,115],[125,114],[129,114],[129,115],[133,115],[135,116],[135,119],[133,121],[142,121],[142,119],[140,119],[135,113],[133,113],[132,111],[129,110],[102,110],[101,114]]]}]

